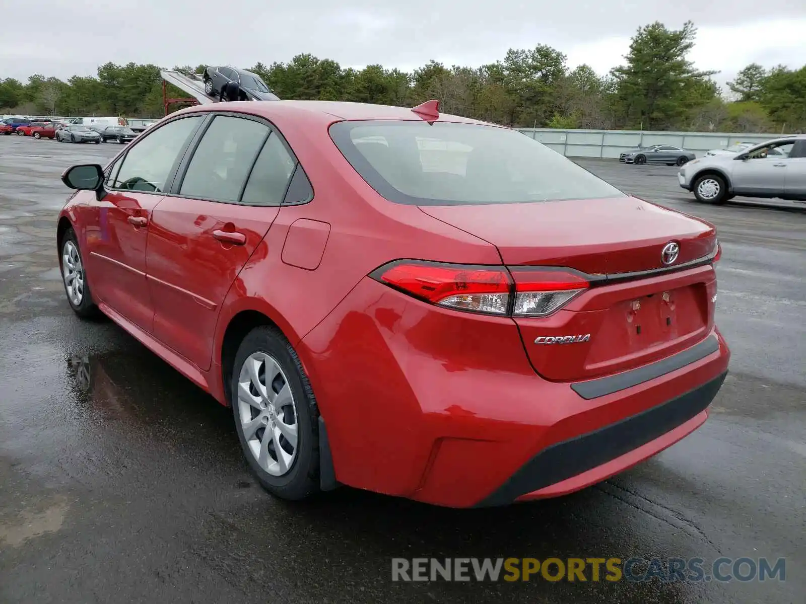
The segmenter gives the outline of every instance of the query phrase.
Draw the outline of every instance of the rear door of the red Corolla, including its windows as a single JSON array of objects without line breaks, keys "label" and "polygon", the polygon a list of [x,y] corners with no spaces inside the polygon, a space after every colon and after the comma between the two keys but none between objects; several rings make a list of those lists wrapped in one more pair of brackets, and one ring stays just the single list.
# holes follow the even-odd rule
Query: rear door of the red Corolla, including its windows
[{"label": "rear door of the red Corolla, including its windows", "polygon": [[146,266],[155,337],[206,370],[222,303],[272,225],[296,159],[249,116],[211,115],[197,140],[152,215]]}]

